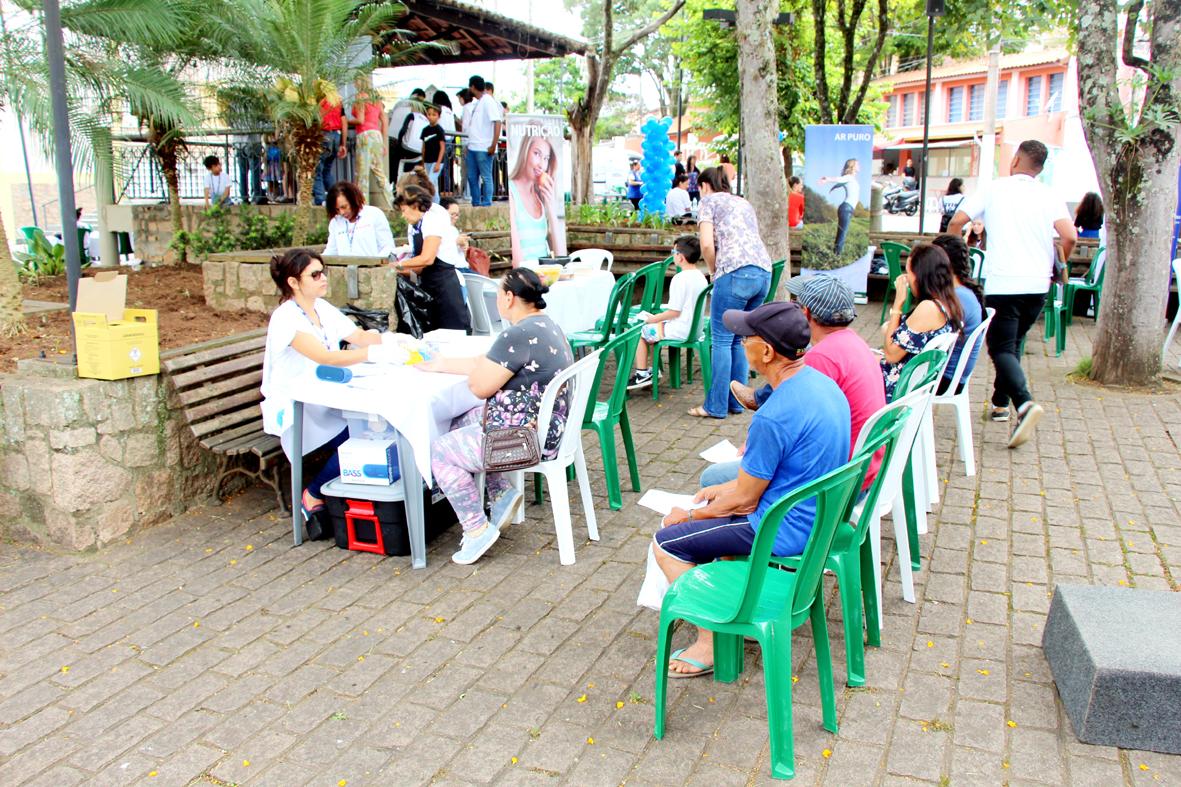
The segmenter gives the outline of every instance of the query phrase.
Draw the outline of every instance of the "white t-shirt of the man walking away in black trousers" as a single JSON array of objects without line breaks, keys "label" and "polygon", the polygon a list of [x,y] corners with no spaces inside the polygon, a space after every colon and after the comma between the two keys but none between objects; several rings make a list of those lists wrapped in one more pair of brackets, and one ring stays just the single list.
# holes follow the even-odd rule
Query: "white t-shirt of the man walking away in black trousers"
[{"label": "white t-shirt of the man walking away in black trousers", "polygon": [[1044,293],[1056,256],[1053,222],[1074,221],[1066,203],[1045,183],[1011,175],[964,197],[959,210],[984,220],[988,233],[986,295]]}]

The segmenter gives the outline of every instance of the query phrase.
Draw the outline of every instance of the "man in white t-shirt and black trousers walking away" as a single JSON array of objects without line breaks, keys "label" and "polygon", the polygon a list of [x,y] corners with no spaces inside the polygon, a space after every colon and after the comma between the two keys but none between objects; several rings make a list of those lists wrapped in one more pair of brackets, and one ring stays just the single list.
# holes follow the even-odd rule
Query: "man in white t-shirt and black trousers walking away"
[{"label": "man in white t-shirt and black trousers walking away", "polygon": [[988,260],[984,294],[997,310],[988,326],[988,356],[997,368],[992,384],[992,419],[1009,421],[1010,402],[1017,424],[1009,447],[1029,441],[1042,418],[1042,405],[1030,396],[1019,353],[1022,342],[1045,305],[1045,294],[1058,260],[1053,233],[1062,241],[1062,259],[1069,260],[1078,235],[1066,203],[1035,178],[1045,167],[1046,148],[1026,139],[1010,165],[1012,175],[968,195],[959,204],[947,232],[963,235],[970,221],[984,220],[988,233]]}]

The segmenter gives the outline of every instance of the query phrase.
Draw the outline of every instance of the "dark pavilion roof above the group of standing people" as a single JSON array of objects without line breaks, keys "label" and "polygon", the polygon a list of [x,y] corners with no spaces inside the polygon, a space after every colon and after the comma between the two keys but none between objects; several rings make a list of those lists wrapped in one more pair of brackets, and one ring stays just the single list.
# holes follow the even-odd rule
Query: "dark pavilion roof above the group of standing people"
[{"label": "dark pavilion roof above the group of standing people", "polygon": [[409,31],[410,40],[452,44],[450,50],[424,50],[415,64],[560,58],[585,54],[587,48],[586,41],[556,35],[461,0],[409,0],[405,6],[406,15],[394,26]]}]

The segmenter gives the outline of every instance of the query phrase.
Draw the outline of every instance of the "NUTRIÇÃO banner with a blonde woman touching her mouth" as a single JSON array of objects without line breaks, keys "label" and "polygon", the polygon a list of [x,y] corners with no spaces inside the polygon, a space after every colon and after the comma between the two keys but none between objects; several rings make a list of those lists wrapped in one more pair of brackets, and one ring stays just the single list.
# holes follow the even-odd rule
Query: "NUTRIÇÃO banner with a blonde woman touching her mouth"
[{"label": "NUTRI\u00c7\u00c3O banner with a blonde woman touching her mouth", "polygon": [[509,115],[509,230],[513,265],[566,255],[569,155],[566,119]]}]

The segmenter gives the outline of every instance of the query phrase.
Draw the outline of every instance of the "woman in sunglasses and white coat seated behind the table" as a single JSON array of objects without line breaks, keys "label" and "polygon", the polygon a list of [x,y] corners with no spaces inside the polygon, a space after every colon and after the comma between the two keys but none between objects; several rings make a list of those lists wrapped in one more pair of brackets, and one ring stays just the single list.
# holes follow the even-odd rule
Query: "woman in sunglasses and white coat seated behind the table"
[{"label": "woman in sunglasses and white coat seated behind the table", "polygon": [[[373,355],[381,355],[381,336],[360,330],[325,300],[328,271],[315,252],[293,248],[276,254],[270,258],[270,278],[279,287],[279,307],[270,313],[262,356],[262,421],[268,434],[281,436],[288,458],[296,462],[299,457],[291,455],[288,444],[289,391],[317,365],[351,366],[377,359]],[[341,350],[341,342],[355,349]],[[320,447],[332,449],[328,462],[304,490],[301,507],[309,538],[319,538],[315,514],[324,508],[320,487],[340,475],[335,449],[347,438],[345,421],[335,411],[314,404],[304,406],[304,453]]]}]

